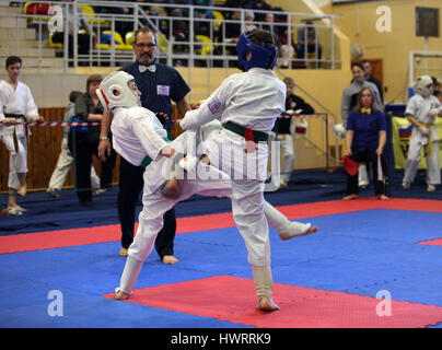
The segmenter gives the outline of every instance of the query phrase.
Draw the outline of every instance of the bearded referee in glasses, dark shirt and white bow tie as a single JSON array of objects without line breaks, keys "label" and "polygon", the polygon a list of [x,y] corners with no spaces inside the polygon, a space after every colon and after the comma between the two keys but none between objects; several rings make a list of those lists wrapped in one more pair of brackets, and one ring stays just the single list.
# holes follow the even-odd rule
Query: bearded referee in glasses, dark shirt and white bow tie
[{"label": "bearded referee in glasses, dark shirt and white bow tie", "polygon": [[[186,95],[190,88],[172,67],[155,61],[156,37],[154,33],[142,27],[135,33],[132,44],[136,61],[123,67],[120,70],[133,75],[138,89],[141,91],[141,105],[156,113],[158,118],[167,130],[172,139],[172,101],[176,103],[182,116],[190,109]],[[112,145],[107,137],[111,128],[112,114],[104,113],[98,155],[105,159],[111,154]],[[136,205],[143,188],[142,166],[135,166],[120,156],[119,192],[118,192],[118,219],[121,226],[121,249],[119,255],[127,256],[128,248],[133,241],[133,225]],[[155,249],[164,264],[176,264],[173,244],[176,232],[175,209],[164,214],[164,226],[158,234]]]}]

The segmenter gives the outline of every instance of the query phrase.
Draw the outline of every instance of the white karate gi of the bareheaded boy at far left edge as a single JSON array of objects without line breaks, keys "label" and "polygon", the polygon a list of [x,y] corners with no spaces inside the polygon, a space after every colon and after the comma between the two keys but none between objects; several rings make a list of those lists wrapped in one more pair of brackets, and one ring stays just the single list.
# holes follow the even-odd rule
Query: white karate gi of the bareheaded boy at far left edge
[{"label": "white karate gi of the bareheaded boy at far left edge", "polygon": [[[0,81],[0,120],[5,114],[24,115],[28,120],[32,116],[38,116],[38,108],[35,105],[31,89],[18,82],[14,90],[7,81]],[[23,120],[22,120],[23,121]],[[15,150],[13,133],[16,133],[18,150]],[[8,187],[20,188],[16,173],[27,173],[27,139],[23,125],[3,126],[0,124],[0,139],[10,152]]]}]

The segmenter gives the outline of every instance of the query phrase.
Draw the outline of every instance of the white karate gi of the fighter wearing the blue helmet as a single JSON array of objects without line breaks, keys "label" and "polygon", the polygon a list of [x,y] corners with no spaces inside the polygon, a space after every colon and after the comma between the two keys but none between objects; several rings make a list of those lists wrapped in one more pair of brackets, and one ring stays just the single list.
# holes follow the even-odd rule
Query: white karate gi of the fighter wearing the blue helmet
[{"label": "white karate gi of the fighter wearing the blue helmet", "polygon": [[[284,112],[286,84],[271,70],[252,68],[232,74],[201,103],[186,113],[181,126],[196,129],[219,118],[267,135]],[[256,151],[245,153],[245,138],[228,129],[211,133],[207,155],[211,164],[232,178],[232,212],[244,238],[252,266],[270,265],[268,224],[264,214],[264,182],[267,175],[268,144],[259,142]]]}]

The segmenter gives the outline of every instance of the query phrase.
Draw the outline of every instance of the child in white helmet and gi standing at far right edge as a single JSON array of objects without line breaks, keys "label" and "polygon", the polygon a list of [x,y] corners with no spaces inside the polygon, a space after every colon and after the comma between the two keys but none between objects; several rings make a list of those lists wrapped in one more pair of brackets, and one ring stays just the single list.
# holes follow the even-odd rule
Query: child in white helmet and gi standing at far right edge
[{"label": "child in white helmet and gi standing at far right edge", "polygon": [[416,94],[408,101],[405,116],[412,124],[410,144],[403,188],[409,189],[415,180],[421,150],[427,161],[427,191],[434,191],[435,185],[441,184],[441,167],[439,162],[439,135],[434,127],[435,117],[442,117],[442,105],[433,96],[433,81],[429,75],[422,75],[414,84]]}]

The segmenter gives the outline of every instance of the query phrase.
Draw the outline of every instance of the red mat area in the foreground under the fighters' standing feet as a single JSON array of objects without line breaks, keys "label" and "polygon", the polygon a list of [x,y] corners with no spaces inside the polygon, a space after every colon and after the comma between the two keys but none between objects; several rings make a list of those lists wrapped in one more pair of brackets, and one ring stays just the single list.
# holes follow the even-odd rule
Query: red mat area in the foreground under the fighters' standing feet
[{"label": "red mat area in the foreground under the fighters' standing feet", "polygon": [[252,280],[219,276],[135,290],[126,302],[259,328],[416,328],[442,322],[439,306],[392,301],[391,316],[380,317],[376,305],[384,300],[312,288],[275,283],[274,299],[281,310],[259,312]]}]

